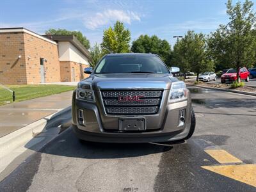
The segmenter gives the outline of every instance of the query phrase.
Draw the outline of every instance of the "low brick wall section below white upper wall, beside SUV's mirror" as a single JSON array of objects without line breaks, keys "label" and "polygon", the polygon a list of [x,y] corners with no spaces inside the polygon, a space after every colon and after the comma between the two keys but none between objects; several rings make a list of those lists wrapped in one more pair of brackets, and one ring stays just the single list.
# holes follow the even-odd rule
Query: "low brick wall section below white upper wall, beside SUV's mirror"
[{"label": "low brick wall section below white upper wall, beside SUV's mirror", "polygon": [[[74,79],[72,79],[72,67],[74,68]],[[84,68],[86,67],[89,66],[73,61],[60,61],[61,81],[81,81],[89,76],[88,74],[84,74]]]}]

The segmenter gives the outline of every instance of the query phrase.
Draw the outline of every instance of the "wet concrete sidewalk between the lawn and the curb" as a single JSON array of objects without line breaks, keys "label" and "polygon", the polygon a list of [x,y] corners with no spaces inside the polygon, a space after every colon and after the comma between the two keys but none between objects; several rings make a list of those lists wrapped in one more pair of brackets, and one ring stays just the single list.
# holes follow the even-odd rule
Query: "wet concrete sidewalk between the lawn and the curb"
[{"label": "wet concrete sidewalk between the lawn and the curb", "polygon": [[72,92],[0,106],[0,138],[67,108],[71,105]]}]

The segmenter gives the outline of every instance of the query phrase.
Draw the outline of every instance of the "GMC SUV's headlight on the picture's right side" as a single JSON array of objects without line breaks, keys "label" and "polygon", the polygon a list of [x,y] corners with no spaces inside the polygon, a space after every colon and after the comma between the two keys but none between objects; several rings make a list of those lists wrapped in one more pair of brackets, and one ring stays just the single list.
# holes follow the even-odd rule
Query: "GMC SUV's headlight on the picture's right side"
[{"label": "GMC SUV's headlight on the picture's right side", "polygon": [[188,96],[188,90],[186,84],[183,81],[173,82],[170,90],[170,102],[179,102],[186,100]]}]

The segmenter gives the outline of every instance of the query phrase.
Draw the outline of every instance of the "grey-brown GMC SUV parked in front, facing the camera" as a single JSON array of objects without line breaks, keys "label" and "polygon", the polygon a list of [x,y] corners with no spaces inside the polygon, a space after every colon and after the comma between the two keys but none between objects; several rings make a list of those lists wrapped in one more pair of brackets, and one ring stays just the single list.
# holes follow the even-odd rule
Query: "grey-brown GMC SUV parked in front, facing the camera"
[{"label": "grey-brown GMC SUV parked in front, facing the camera", "polygon": [[107,54],[85,72],[90,76],[72,97],[72,126],[80,140],[177,141],[195,131],[186,84],[156,54]]}]

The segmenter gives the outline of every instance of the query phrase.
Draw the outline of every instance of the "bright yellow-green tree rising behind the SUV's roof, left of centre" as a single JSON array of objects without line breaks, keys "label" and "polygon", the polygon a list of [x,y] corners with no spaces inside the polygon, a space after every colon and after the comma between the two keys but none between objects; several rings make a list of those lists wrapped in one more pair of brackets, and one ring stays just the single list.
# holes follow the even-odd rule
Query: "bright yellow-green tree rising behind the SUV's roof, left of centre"
[{"label": "bright yellow-green tree rising behind the SUV's roof, left of centre", "polygon": [[131,32],[124,28],[124,24],[116,21],[114,28],[109,27],[103,32],[101,48],[105,53],[130,52]]}]

